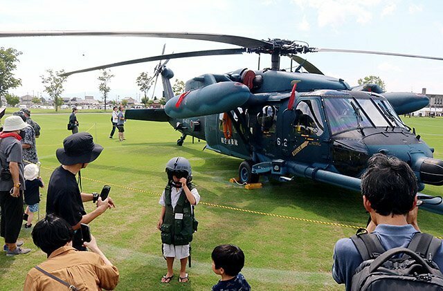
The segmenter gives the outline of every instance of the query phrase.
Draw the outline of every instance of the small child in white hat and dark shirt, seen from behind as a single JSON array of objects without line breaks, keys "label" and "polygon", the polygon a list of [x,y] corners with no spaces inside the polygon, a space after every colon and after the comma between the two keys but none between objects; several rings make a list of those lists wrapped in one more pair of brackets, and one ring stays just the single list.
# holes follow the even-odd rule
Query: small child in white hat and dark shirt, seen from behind
[{"label": "small child in white hat and dark shirt, seen from behind", "polygon": [[25,228],[33,226],[34,213],[39,211],[39,187],[44,187],[43,180],[39,177],[39,167],[35,164],[28,164],[24,169],[25,176],[25,203],[26,207],[23,220],[26,220]]}]

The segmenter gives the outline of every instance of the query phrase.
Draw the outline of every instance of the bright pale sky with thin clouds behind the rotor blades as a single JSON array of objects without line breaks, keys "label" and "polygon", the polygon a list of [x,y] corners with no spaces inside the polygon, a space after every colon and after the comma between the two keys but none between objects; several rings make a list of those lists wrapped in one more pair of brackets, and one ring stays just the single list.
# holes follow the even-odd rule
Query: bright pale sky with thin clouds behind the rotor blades
[{"label": "bright pale sky with thin clouds behind the rotor blades", "polygon": [[[116,30],[150,32],[204,32],[255,39],[307,41],[318,48],[375,50],[390,53],[443,57],[443,5],[418,0],[255,0],[255,1],[86,1],[2,0],[0,30]],[[229,44],[185,39],[142,37],[21,37],[1,38],[0,47],[23,54],[15,71],[22,86],[17,95],[47,97],[41,75],[47,69],[75,71],[192,50],[235,48]],[[325,75],[356,86],[359,78],[377,75],[387,91],[443,94],[443,61],[361,55],[311,53],[301,55]],[[172,59],[174,79],[186,81],[204,73],[227,73],[237,68],[257,69],[255,54]],[[270,66],[262,55],[261,67]],[[111,68],[111,100],[140,99],[136,77],[152,75],[157,62]],[[289,68],[282,57],[280,67]],[[64,97],[93,95],[100,100],[99,72],[71,75]],[[149,95],[153,93],[150,92]],[[155,95],[161,96],[161,82]]]}]

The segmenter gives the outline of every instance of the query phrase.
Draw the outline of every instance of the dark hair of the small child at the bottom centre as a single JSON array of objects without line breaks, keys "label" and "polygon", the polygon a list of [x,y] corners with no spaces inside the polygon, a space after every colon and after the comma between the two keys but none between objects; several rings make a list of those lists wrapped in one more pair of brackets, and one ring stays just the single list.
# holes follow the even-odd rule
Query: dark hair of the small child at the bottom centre
[{"label": "dark hair of the small child at the bottom centre", "polygon": [[210,256],[215,268],[222,267],[229,276],[237,276],[244,266],[244,254],[237,245],[219,245]]}]

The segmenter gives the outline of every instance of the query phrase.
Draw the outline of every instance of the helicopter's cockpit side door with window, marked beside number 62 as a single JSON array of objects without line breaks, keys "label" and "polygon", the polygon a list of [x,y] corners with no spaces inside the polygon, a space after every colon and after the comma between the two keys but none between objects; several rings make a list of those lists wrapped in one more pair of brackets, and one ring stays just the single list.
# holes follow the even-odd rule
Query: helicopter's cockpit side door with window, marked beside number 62
[{"label": "helicopter's cockpit side door with window, marked beside number 62", "polygon": [[329,144],[323,142],[325,117],[320,100],[305,97],[298,100],[295,109],[285,110],[279,116],[277,146],[284,158],[293,158],[311,165],[327,162]]}]

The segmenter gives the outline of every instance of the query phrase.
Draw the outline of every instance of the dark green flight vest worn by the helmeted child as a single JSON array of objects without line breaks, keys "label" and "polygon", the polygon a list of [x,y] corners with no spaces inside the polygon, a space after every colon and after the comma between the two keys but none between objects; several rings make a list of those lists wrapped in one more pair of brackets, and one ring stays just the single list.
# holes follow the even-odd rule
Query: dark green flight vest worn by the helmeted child
[{"label": "dark green flight vest worn by the helmeted child", "polygon": [[[194,187],[188,185],[192,190]],[[175,209],[172,208],[171,186],[165,187],[166,212],[161,230],[161,242],[167,245],[188,245],[192,241],[192,234],[197,231],[197,220],[185,191],[181,191]]]}]

